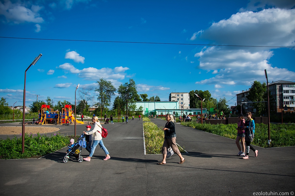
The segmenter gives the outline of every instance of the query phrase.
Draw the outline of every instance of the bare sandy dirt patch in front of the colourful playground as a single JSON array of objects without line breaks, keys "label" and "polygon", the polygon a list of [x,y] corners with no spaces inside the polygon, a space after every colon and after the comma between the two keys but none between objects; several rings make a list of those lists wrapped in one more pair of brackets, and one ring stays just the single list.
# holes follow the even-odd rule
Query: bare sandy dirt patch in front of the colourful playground
[{"label": "bare sandy dirt patch in front of the colourful playground", "polygon": [[[52,133],[60,130],[57,127],[26,127],[25,133]],[[19,135],[22,127],[0,127],[0,135]]]}]

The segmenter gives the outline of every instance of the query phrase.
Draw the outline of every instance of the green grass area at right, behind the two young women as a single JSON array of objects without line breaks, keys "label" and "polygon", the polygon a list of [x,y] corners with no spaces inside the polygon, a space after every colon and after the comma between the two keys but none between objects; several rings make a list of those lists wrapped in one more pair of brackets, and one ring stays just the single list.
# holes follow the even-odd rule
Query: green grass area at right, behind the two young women
[{"label": "green grass area at right, behind the two young women", "polygon": [[[187,122],[181,123],[184,126],[188,126],[194,129],[206,131],[226,138],[236,139],[237,137],[237,124],[207,124]],[[260,146],[263,148],[267,147],[285,147],[295,146],[295,124],[271,124],[270,126],[271,145],[268,146],[268,125],[255,124],[254,140],[251,144]]]}]

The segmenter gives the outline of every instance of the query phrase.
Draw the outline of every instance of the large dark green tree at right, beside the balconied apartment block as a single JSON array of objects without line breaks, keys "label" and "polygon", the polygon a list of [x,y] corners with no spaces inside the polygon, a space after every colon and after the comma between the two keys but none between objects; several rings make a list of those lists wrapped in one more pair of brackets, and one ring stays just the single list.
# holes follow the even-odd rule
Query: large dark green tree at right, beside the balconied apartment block
[{"label": "large dark green tree at right, beside the balconied apartment block", "polygon": [[[259,81],[254,81],[249,88],[248,95],[246,96],[249,102],[265,101],[266,95],[266,83],[261,84]],[[266,103],[251,103],[256,108],[256,114],[262,114],[266,111]],[[249,104],[250,105],[250,104]]]}]

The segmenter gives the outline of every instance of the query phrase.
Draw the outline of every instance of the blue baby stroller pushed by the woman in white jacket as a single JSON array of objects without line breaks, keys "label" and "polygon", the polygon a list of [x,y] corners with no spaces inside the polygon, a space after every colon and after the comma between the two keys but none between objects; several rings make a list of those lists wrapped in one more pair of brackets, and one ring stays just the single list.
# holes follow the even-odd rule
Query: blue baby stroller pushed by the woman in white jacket
[{"label": "blue baby stroller pushed by the woman in white jacket", "polygon": [[78,159],[79,163],[81,163],[83,161],[83,157],[81,156],[82,147],[83,148],[86,147],[86,141],[85,141],[85,134],[84,133],[82,133],[82,135],[77,140],[77,142],[74,143],[74,146],[72,148],[70,146],[68,146],[69,149],[67,150],[67,153],[63,157],[63,163],[68,162],[68,158],[66,156],[69,156],[69,155],[74,156],[76,159]]}]

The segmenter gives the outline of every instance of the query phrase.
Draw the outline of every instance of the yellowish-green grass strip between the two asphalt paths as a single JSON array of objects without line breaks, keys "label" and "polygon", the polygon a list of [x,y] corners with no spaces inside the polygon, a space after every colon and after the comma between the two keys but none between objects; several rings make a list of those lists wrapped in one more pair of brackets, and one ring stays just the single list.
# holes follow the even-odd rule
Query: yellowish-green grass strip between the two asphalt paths
[{"label": "yellowish-green grass strip between the two asphalt paths", "polygon": [[[145,135],[145,151],[146,154],[161,154],[162,145],[164,143],[164,131],[162,128],[158,128],[155,123],[149,122],[149,118],[143,118],[143,130]],[[178,146],[181,153],[186,151]]]}]

